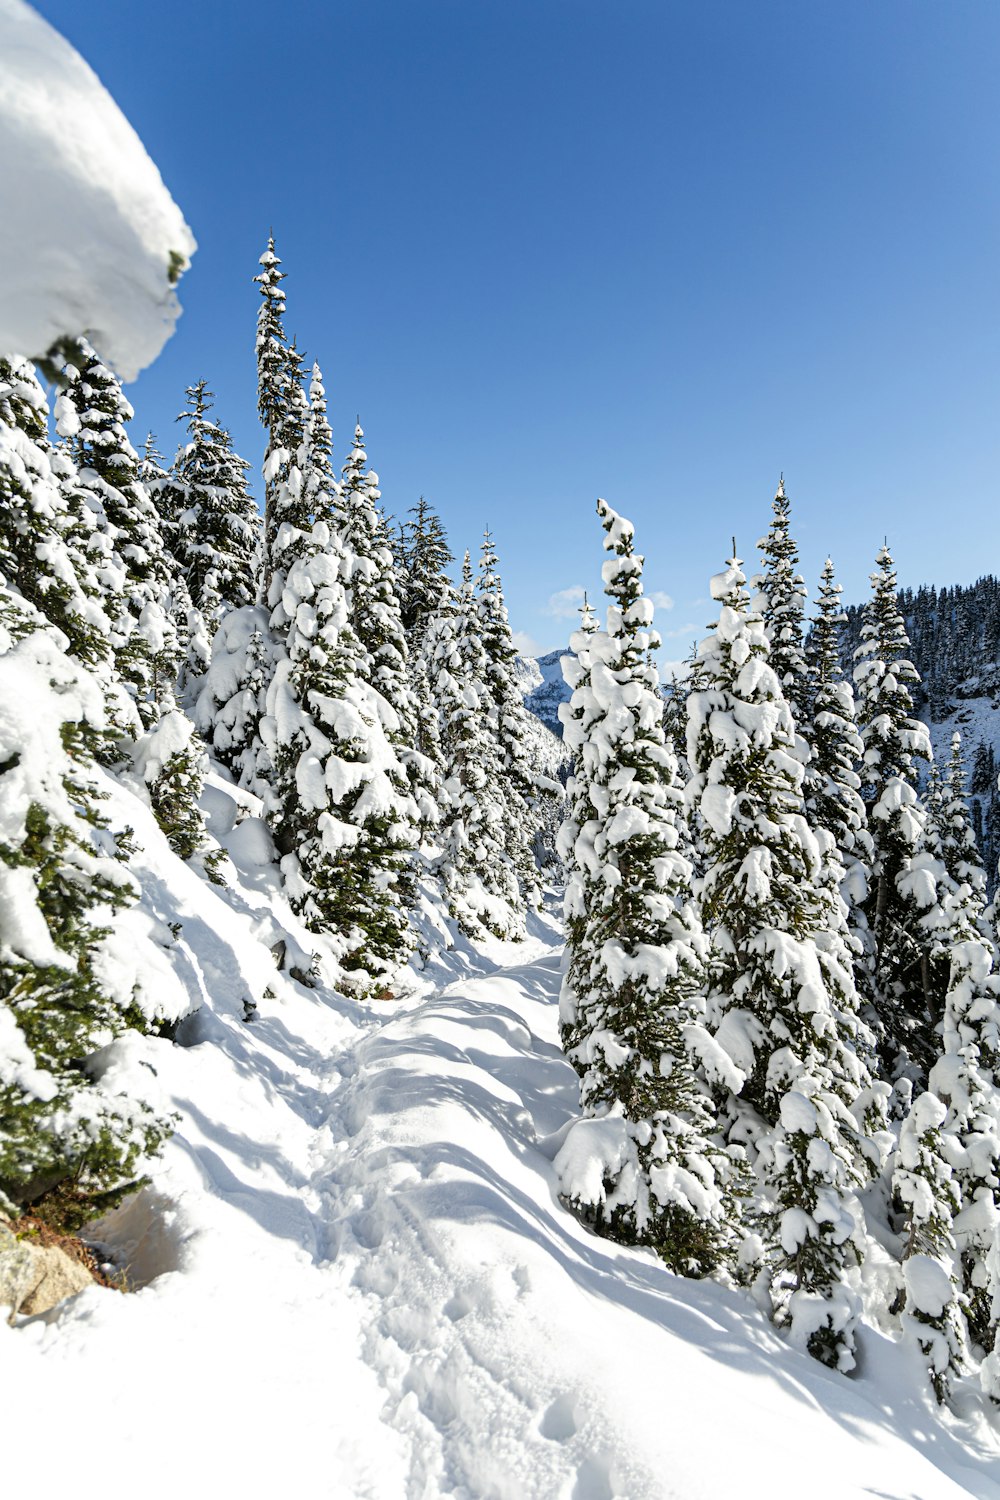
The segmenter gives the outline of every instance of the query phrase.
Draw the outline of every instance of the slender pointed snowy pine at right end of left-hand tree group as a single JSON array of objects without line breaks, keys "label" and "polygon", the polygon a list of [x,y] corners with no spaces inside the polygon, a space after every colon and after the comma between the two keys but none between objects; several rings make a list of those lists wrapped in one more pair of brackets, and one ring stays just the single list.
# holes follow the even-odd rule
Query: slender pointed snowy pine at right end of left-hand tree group
[{"label": "slender pointed snowy pine at right end of left-hand tree group", "polygon": [[532,765],[528,710],[514,680],[514,639],[507,618],[499,558],[486,531],[477,580],[480,639],[486,651],[486,690],[489,723],[501,747],[507,852],[514,861],[528,906],[541,898],[535,840],[546,822],[546,806],[562,801],[558,782],[541,776]]}]

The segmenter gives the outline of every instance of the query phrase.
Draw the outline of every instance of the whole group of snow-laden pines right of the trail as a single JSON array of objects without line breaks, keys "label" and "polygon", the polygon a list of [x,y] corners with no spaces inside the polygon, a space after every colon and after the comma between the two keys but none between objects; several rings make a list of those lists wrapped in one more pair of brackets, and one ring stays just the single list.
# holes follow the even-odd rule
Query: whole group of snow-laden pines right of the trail
[{"label": "whole group of snow-laden pines right of the trail", "polygon": [[[633,526],[598,501],[607,622],[567,660],[561,999],[582,1118],[556,1156],[598,1232],[753,1288],[825,1364],[867,1306],[934,1392],[1000,1398],[1000,976],[961,740],[931,764],[882,548],[853,672],[811,620],[784,486],[751,596],[661,700]],[[921,789],[918,770],[930,768]]]}]

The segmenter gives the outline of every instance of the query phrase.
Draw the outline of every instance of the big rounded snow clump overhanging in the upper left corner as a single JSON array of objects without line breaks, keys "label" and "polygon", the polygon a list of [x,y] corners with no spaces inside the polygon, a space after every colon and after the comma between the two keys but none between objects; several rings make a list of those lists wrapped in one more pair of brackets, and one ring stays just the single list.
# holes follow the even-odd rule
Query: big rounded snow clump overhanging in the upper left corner
[{"label": "big rounded snow clump overhanging in the upper left corner", "polygon": [[195,238],[93,69],[24,0],[0,0],[0,352],[87,334],[135,380],[174,330]]}]

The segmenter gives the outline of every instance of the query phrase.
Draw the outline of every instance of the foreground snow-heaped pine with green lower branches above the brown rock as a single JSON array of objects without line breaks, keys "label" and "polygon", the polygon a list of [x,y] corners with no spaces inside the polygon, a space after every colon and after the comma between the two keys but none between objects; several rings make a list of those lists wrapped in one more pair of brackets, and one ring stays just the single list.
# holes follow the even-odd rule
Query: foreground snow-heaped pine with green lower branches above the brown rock
[{"label": "foreground snow-heaped pine with green lower branches above the brown rock", "polygon": [[[166,964],[112,928],[133,900],[88,754],[102,684],[0,597],[0,1209],[61,1194],[73,1227],[133,1185],[169,1126],[102,1083],[96,1054],[177,1020]],[[126,951],[127,950],[127,951]],[[180,1004],[178,1004],[180,992]],[[66,1191],[69,1188],[69,1191]]]}]

